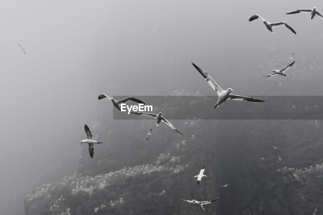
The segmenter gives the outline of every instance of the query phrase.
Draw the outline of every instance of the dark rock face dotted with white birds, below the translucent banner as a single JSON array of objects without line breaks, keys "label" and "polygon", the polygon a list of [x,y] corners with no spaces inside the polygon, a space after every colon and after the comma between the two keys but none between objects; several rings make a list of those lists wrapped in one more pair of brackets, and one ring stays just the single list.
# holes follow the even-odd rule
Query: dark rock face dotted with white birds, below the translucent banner
[{"label": "dark rock face dotted with white birds, below the translucent banner", "polygon": [[[98,112],[91,131],[103,144],[93,159],[83,148],[78,173],[26,197],[27,215],[203,214],[181,198],[219,198],[206,214],[323,214],[321,121],[172,120],[180,135],[154,120],[111,122]],[[203,165],[208,177],[197,185]]]}]

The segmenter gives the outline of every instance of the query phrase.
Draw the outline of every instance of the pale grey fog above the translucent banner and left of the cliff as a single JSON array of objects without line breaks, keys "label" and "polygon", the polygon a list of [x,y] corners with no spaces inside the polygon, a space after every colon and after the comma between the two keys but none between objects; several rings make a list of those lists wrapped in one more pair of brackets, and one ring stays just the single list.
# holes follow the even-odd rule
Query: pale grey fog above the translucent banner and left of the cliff
[{"label": "pale grey fog above the translucent banner and left of the cliff", "polygon": [[[193,61],[237,95],[321,95],[323,20],[285,14],[314,6],[323,12],[321,1],[300,0],[4,1],[2,214],[24,214],[32,189],[77,170],[100,93],[214,95]],[[261,21],[248,22],[254,14],[285,21],[297,35],[285,27],[272,34]],[[289,78],[261,78],[293,52]]]}]

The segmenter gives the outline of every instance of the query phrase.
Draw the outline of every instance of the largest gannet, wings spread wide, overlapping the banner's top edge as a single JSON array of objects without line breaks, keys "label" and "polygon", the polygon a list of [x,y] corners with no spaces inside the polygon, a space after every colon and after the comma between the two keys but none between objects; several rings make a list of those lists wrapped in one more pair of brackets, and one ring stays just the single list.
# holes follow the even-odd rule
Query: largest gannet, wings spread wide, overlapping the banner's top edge
[{"label": "largest gannet, wings spread wide, overlapping the banner's top edge", "polygon": [[217,83],[215,83],[215,81],[212,79],[212,77],[209,74],[204,72],[193,62],[192,64],[197,69],[197,71],[199,71],[199,73],[205,78],[205,80],[211,85],[211,87],[218,93],[219,98],[214,108],[218,107],[221,103],[225,102],[227,99],[240,100],[240,101],[252,101],[252,102],[264,102],[263,100],[259,100],[251,97],[232,95],[231,91],[233,91],[233,89],[228,88],[227,90],[223,90]]}]

